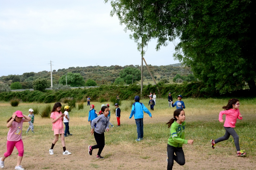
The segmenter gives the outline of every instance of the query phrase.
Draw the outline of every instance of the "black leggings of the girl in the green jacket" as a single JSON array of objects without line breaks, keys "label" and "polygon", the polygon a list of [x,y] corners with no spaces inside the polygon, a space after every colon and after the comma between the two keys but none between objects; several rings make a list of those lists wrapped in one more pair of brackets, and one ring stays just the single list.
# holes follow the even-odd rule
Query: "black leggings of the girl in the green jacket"
[{"label": "black leggings of the girl in the green jacket", "polygon": [[[174,152],[176,155],[174,155]],[[185,164],[185,155],[182,150],[182,147],[174,147],[167,144],[167,170],[172,170],[173,160],[175,160],[178,164]]]}]

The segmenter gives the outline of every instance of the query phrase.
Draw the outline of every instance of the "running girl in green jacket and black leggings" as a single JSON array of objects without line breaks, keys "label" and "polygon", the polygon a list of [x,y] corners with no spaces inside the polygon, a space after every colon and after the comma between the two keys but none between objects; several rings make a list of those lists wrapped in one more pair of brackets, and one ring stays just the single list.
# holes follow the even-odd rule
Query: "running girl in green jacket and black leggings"
[{"label": "running girl in green jacket and black leggings", "polygon": [[[173,118],[167,123],[170,128],[170,137],[167,144],[167,170],[171,170],[173,160],[179,165],[185,164],[185,156],[182,149],[183,144],[193,144],[193,140],[185,140],[185,112],[177,109],[173,113]],[[176,155],[174,155],[174,152]]]}]

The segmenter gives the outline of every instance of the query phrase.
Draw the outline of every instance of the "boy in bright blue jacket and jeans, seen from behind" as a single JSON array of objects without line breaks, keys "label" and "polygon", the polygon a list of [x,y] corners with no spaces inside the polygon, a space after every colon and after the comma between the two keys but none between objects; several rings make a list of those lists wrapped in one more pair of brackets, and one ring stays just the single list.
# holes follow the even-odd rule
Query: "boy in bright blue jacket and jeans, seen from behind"
[{"label": "boy in bright blue jacket and jeans, seen from behind", "polygon": [[138,138],[135,141],[140,141],[143,140],[143,111],[148,113],[149,117],[152,118],[151,113],[149,110],[144,106],[143,103],[140,102],[140,97],[135,96],[134,97],[135,103],[132,104],[132,111],[130,115],[130,119],[134,115],[135,123],[137,126],[137,133],[138,133]]}]

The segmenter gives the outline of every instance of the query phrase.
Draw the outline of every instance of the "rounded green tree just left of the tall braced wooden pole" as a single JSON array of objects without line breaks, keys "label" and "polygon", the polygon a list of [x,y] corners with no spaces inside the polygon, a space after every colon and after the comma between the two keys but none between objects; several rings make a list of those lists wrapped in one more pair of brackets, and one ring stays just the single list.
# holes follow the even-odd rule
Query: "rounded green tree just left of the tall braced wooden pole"
[{"label": "rounded green tree just left of the tall braced wooden pole", "polygon": [[140,80],[140,70],[134,67],[126,67],[123,70],[120,71],[120,78],[124,80],[126,84],[132,84],[132,77],[133,82]]}]

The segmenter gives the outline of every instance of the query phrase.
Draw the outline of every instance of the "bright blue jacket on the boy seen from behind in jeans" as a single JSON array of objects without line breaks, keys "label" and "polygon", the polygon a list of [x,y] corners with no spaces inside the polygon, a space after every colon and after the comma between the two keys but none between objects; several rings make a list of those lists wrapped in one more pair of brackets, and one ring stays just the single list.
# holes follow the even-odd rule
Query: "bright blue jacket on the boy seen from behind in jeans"
[{"label": "bright blue jacket on the boy seen from behind in jeans", "polygon": [[144,106],[143,103],[135,102],[132,104],[132,111],[131,111],[131,115],[129,118],[132,118],[132,116],[134,115],[134,119],[141,119],[141,118],[143,118],[143,111],[148,113],[149,117],[152,117],[151,113]]}]

